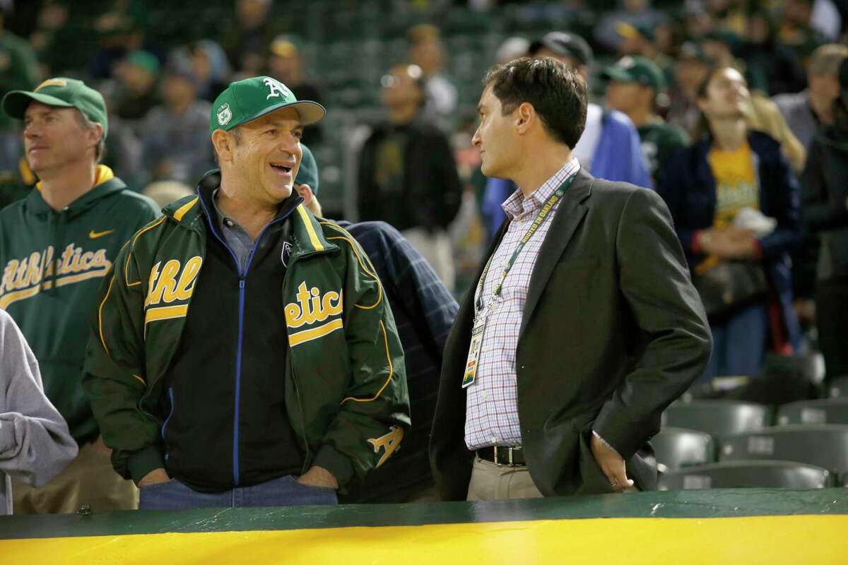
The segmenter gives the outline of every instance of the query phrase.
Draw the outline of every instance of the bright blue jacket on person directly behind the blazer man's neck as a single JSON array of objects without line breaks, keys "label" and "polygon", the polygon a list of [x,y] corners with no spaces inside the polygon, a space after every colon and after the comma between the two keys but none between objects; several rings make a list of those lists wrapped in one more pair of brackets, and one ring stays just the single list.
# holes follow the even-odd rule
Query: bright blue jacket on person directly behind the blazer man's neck
[{"label": "bright blue jacket on person directly behind the blazer man's neck", "polygon": [[[589,172],[598,179],[629,182],[644,188],[654,186],[639,147],[639,132],[627,115],[616,110],[604,112],[598,147],[595,147]],[[511,180],[492,178],[486,182],[481,212],[488,241],[492,241],[506,219],[500,205],[516,188]]]}]

